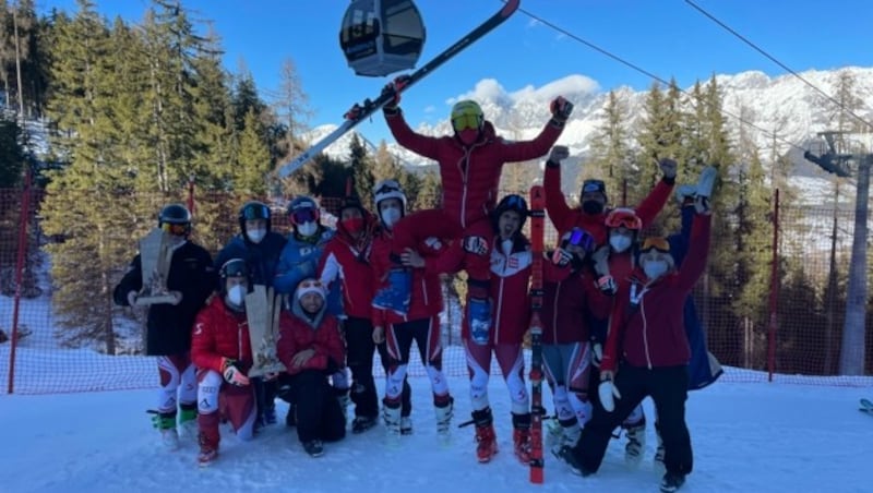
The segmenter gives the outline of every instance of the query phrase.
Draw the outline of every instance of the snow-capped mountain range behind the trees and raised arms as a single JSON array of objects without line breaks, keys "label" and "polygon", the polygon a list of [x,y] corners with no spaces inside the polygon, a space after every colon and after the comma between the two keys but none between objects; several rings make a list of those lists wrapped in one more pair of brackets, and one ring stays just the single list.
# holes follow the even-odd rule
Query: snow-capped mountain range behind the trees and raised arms
[{"label": "snow-capped mountain range behind the trees and raised arms", "polygon": [[[861,108],[854,112],[866,121],[873,120],[873,68],[811,70],[800,73],[803,80],[790,74],[770,77],[763,72],[751,71],[736,75],[717,75],[716,81],[721,89],[727,122],[734,134],[744,124],[739,120],[742,115],[751,123],[745,124],[744,131],[755,140],[760,148],[766,151],[764,155],[769,155],[770,146],[775,142],[779,154],[788,153],[791,156],[799,177],[826,180],[824,172],[803,159],[802,148],[810,146],[816,132],[834,129],[833,117],[838,108],[815,88],[834,97],[842,73],[853,77],[853,96],[862,101]],[[708,81],[702,81],[706,82]],[[690,92],[691,87],[683,89]],[[643,117],[645,91],[637,92],[630,87],[614,91],[633,115],[632,123]],[[601,123],[602,108],[608,98],[608,91],[600,88],[596,81],[587,76],[569,75],[541,87],[528,86],[515,92],[507,92],[498,81],[482,80],[468,94],[459,95],[455,99],[477,100],[499,134],[506,139],[521,140],[533,137],[539,132],[549,118],[549,101],[558,95],[566,97],[575,105],[559,143],[567,145],[572,155],[584,160],[589,148],[589,139]],[[334,129],[333,125],[319,127],[311,135],[316,140]],[[451,127],[446,119],[436,124],[421,123],[416,130],[428,135],[443,135],[451,132]],[[335,157],[345,157],[349,139],[349,135],[328,147],[327,153]],[[394,142],[388,142],[388,148],[406,165],[432,164]]]}]

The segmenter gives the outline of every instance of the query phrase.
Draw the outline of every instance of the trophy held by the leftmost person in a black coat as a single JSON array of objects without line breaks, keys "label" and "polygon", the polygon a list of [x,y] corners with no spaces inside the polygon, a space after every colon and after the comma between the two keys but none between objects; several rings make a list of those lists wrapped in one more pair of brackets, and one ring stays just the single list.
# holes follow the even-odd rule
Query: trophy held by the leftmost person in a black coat
[{"label": "trophy held by the leftmost person in a black coat", "polygon": [[143,288],[136,296],[137,306],[176,301],[176,297],[167,289],[167,277],[172,260],[172,249],[167,236],[163,229],[155,228],[140,240]]}]

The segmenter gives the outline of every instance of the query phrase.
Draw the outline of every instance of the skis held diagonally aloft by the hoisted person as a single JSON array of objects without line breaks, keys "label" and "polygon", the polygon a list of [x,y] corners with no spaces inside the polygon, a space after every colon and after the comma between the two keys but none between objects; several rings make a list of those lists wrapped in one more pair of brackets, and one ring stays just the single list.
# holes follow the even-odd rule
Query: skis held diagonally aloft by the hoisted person
[{"label": "skis held diagonally aloft by the hoisted person", "polygon": [[345,115],[346,120],[339,125],[336,130],[331,132],[330,134],[325,135],[321,141],[313,144],[310,148],[303,152],[303,154],[294,158],[290,163],[283,165],[278,169],[279,178],[287,178],[292,172],[297,171],[298,168],[303,166],[307,161],[315,157],[319,153],[327,148],[328,145],[336,142],[339,137],[345,135],[349,130],[354,129],[358,123],[361,121],[370,118],[375,111],[381,109],[383,106],[388,104],[394,99],[394,97],[408,89],[412,84],[417,83],[418,81],[428,76],[431,72],[436,70],[440,65],[452,59],[455,55],[459,53],[464,48],[476,43],[478,39],[483,37],[486,34],[493,31],[499,25],[503,24],[504,21],[510,19],[510,16],[518,10],[518,5],[521,4],[521,0],[509,0],[503,8],[500,9],[495,14],[490,16],[486,22],[480,24],[475,29],[470,31],[466,36],[458,39],[457,43],[450,46],[441,53],[433,57],[428,63],[422,65],[420,69],[416,70],[408,76],[404,77],[403,85],[395,86],[394,92],[383,92],[378,98],[375,99],[364,99],[363,103],[356,104],[351,107],[351,109]]}]

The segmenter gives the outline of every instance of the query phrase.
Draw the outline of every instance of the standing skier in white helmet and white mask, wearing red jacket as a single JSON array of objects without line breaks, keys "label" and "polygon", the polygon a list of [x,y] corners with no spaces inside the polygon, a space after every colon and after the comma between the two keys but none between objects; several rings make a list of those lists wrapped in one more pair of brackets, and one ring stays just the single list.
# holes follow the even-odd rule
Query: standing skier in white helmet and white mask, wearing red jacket
[{"label": "standing skier in white helmet and white mask, wearing red jacket", "polygon": [[[373,240],[371,255],[376,287],[388,282],[391,269],[391,245],[394,227],[406,214],[406,194],[395,180],[383,180],[373,189],[375,207],[381,228]],[[403,258],[415,257],[416,267],[410,269],[408,287],[410,303],[405,314],[373,308],[373,342],[387,347],[385,398],[383,416],[388,433],[393,435],[411,432],[410,405],[404,396],[406,370],[412,342],[418,346],[421,363],[430,377],[438,433],[446,433],[452,419],[454,400],[442,371],[442,344],[440,338],[440,312],[443,309],[439,273],[424,268],[424,258],[436,256],[444,246],[435,238],[424,239],[420,244],[404,252]],[[402,260],[403,260],[402,258]]]}]

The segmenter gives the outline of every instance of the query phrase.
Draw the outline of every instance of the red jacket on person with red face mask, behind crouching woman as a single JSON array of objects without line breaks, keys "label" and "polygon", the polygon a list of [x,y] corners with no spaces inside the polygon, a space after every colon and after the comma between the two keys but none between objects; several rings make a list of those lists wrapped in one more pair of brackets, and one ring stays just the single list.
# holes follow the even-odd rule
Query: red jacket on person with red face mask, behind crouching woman
[{"label": "red jacket on person with red face mask, behind crouching woman", "polygon": [[[371,227],[373,218],[364,218]],[[342,226],[337,227],[336,235],[324,245],[319,261],[321,281],[325,286],[340,282],[343,289],[343,310],[346,315],[356,318],[370,320],[373,301],[373,268],[370,265],[370,249],[355,246],[355,242],[345,232]]]}]

